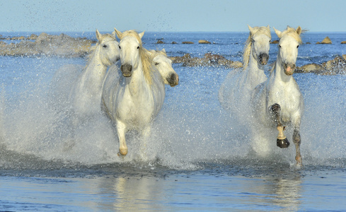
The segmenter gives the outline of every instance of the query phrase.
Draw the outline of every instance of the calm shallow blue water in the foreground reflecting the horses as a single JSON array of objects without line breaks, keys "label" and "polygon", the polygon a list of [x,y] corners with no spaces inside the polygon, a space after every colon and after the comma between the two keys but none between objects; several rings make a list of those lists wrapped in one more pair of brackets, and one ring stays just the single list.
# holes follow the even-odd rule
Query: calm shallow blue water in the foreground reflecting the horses
[{"label": "calm shallow blue water in the foreground reflecting the horses", "polygon": [[[6,176],[0,178],[0,208],[6,211],[345,209],[345,170],[333,167],[290,170],[287,166],[272,169],[215,166],[200,171],[163,167],[156,171],[122,170],[105,176]],[[268,173],[263,176],[265,171]],[[248,172],[246,176],[243,176],[244,172]]]}]

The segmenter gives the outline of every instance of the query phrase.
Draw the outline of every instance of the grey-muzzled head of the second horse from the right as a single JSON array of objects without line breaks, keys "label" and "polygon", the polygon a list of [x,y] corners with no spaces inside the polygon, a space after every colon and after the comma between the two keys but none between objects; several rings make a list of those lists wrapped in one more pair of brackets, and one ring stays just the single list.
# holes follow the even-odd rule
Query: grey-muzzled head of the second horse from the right
[{"label": "grey-muzzled head of the second horse from the right", "polygon": [[258,61],[258,64],[265,65],[269,59],[269,49],[270,49],[270,27],[255,27],[252,28],[248,25],[250,30],[249,35],[249,47],[251,47],[251,53],[253,58]]}]

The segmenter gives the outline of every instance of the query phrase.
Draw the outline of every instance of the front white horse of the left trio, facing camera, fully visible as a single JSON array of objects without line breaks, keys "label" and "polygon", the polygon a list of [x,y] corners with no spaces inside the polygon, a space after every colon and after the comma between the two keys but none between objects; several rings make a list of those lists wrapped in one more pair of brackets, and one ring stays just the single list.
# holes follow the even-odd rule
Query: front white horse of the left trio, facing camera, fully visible
[{"label": "front white horse of the left trio, facing camera, fully visible", "polygon": [[[119,71],[108,71],[103,85],[103,104],[116,125],[120,154],[127,155],[125,134],[139,131],[144,142],[151,132],[151,121],[161,110],[165,98],[163,78],[152,66],[153,59],[142,46],[143,33],[128,30],[121,33]],[[146,143],[144,143],[144,147]]]}]

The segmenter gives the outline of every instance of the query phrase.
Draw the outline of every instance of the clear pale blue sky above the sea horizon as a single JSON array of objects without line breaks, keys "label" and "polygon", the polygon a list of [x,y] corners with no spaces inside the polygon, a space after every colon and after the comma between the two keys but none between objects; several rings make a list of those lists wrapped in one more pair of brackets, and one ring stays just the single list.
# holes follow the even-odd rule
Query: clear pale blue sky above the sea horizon
[{"label": "clear pale blue sky above the sea horizon", "polygon": [[0,0],[0,32],[247,32],[247,25],[287,25],[346,32],[343,0]]}]

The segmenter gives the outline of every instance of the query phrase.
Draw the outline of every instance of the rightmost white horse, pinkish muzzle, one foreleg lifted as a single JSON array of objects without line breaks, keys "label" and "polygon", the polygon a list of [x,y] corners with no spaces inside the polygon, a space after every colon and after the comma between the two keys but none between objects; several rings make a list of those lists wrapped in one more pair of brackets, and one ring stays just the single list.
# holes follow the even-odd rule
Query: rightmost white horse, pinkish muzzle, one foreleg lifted
[{"label": "rightmost white horse, pinkish muzzle, one foreleg lifted", "polygon": [[[301,136],[299,128],[301,117],[304,111],[303,95],[292,74],[296,69],[296,57],[298,47],[301,44],[301,28],[287,27],[280,32],[275,30],[279,37],[279,52],[277,60],[272,68],[267,81],[258,85],[253,93],[253,114],[258,119],[257,129],[254,129],[255,151],[260,151],[260,146],[268,145],[265,139],[261,138],[260,126],[276,127],[279,134],[277,136],[277,146],[287,148],[289,141],[284,135],[284,124],[292,124],[294,128],[293,142],[296,146],[296,163],[301,165],[300,143]],[[267,137],[264,135],[264,137]]]}]

